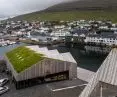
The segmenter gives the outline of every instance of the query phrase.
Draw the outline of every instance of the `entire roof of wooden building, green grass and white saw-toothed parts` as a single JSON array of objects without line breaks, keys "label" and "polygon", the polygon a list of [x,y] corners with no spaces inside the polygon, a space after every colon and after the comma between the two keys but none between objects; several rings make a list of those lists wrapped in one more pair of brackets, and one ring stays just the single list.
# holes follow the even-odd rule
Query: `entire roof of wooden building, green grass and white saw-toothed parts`
[{"label": "entire roof of wooden building, green grass and white saw-toothed parts", "polygon": [[8,52],[6,56],[17,73],[24,71],[45,58],[76,63],[72,55],[68,52],[59,53],[57,49],[48,50],[47,47],[40,48],[37,45],[18,47]]}]

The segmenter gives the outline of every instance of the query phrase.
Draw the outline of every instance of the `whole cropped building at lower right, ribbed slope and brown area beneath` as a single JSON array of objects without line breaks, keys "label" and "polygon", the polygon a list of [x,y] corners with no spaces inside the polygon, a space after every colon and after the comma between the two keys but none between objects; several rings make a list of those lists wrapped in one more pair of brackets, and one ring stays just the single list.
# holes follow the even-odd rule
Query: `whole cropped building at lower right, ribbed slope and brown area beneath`
[{"label": "whole cropped building at lower right, ribbed slope and brown area beneath", "polygon": [[79,97],[117,97],[117,48],[109,53]]}]

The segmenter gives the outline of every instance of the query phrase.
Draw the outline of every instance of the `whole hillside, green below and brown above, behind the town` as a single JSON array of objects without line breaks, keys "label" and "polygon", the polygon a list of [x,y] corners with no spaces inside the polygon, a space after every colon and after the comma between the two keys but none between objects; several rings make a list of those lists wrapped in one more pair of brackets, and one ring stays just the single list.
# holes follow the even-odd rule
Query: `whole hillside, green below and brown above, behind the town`
[{"label": "whole hillside, green below and brown above, behind the town", "polygon": [[105,19],[117,22],[117,0],[76,0],[51,6],[43,11],[17,16],[10,20]]}]

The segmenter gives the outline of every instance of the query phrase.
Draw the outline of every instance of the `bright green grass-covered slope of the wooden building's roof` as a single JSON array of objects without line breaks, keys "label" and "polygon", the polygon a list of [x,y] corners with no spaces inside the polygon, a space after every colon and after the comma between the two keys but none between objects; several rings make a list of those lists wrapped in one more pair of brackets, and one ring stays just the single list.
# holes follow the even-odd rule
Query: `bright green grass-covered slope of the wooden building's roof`
[{"label": "bright green grass-covered slope of the wooden building's roof", "polygon": [[42,54],[38,54],[24,46],[6,53],[6,56],[17,73],[24,71],[44,59]]}]

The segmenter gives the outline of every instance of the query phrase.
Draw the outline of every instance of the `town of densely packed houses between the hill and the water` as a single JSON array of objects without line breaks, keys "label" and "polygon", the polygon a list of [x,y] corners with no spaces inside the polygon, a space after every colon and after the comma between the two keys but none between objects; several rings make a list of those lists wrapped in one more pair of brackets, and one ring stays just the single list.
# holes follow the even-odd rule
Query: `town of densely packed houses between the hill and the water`
[{"label": "town of densely packed houses between the hill and the water", "polygon": [[116,46],[116,35],[117,24],[111,21],[7,21],[0,23],[1,46],[12,44],[12,41],[33,41],[38,44],[51,44],[56,41]]}]

